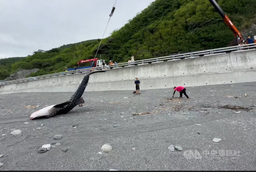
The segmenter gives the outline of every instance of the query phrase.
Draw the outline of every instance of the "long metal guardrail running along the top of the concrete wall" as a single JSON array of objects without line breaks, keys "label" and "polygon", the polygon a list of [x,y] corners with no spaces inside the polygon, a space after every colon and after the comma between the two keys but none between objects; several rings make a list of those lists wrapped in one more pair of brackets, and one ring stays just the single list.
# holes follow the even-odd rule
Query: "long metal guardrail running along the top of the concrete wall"
[{"label": "long metal guardrail running along the top of the concrete wall", "polygon": [[201,57],[201,56],[204,56],[204,55],[212,55],[212,54],[217,54],[217,53],[229,53],[231,51],[244,51],[244,50],[250,50],[252,48],[254,48],[254,49],[256,48],[256,43],[238,45],[238,46],[233,46],[233,47],[218,48],[218,49],[212,49],[212,50],[188,52],[188,53],[158,57],[158,58],[153,58],[153,59],[137,60],[137,61],[134,61],[134,62],[118,63],[116,65],[111,65],[111,66],[106,65],[105,67],[98,66],[98,67],[80,69],[80,70],[75,70],[75,71],[60,72],[60,73],[55,73],[55,74],[47,74],[47,75],[29,77],[29,78],[24,78],[24,79],[0,82],[0,85],[1,84],[16,83],[16,82],[32,81],[32,80],[43,79],[43,78],[51,78],[51,77],[57,77],[57,76],[62,76],[62,75],[88,73],[88,72],[92,72],[92,71],[95,71],[95,70],[109,70],[109,69],[113,69],[113,68],[144,65],[144,64],[150,64],[152,62],[164,62],[164,61],[167,61],[167,60],[196,58],[196,57]]}]

